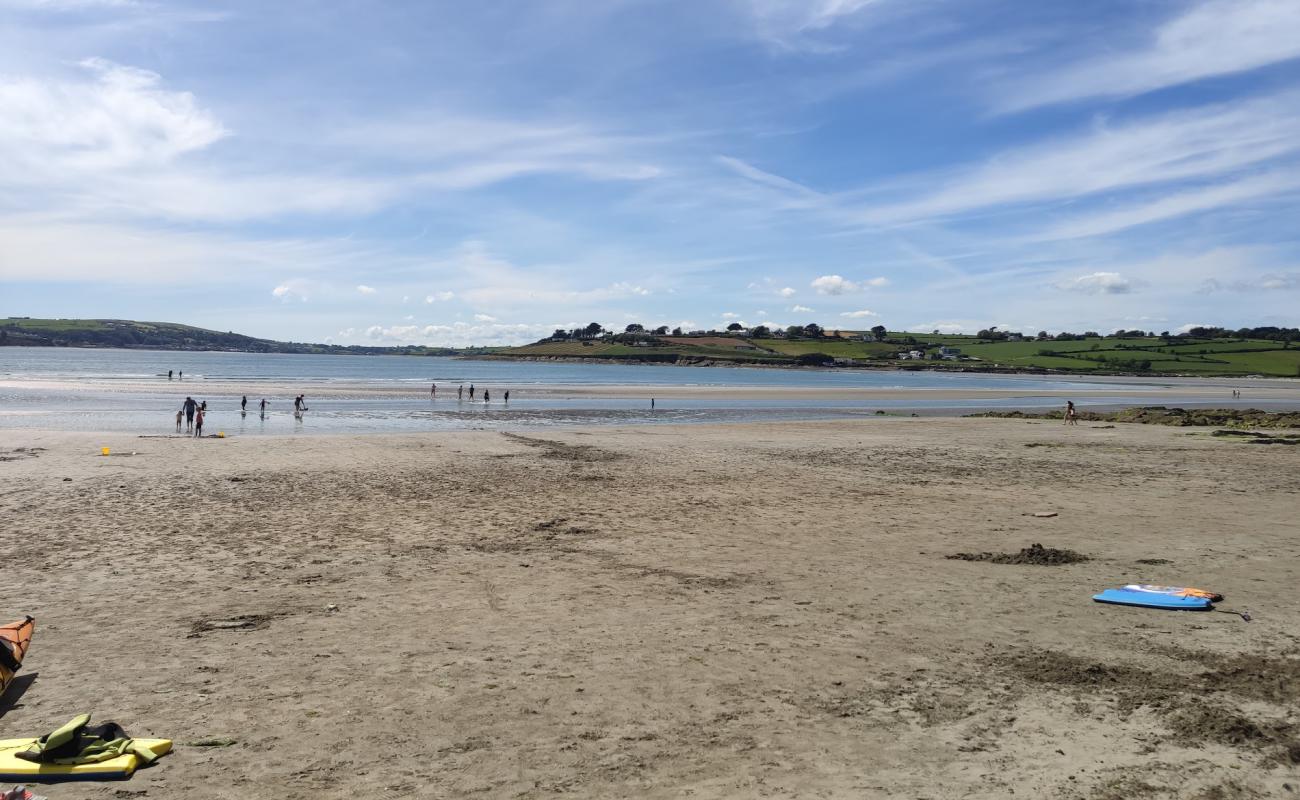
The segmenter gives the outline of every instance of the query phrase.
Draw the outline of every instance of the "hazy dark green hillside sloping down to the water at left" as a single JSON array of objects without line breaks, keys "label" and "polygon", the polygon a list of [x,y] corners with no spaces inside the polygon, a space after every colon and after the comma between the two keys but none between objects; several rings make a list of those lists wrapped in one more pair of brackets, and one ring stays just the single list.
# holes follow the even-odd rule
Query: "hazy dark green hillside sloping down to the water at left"
[{"label": "hazy dark green hillside sloping down to the water at left", "polygon": [[[351,353],[360,355],[411,354],[455,355],[443,347],[343,347],[277,342],[239,333],[221,333],[177,323],[134,320],[40,320],[0,319],[0,346],[35,347],[126,347],[140,350],[228,350],[238,353]],[[484,349],[482,351],[486,351]]]}]

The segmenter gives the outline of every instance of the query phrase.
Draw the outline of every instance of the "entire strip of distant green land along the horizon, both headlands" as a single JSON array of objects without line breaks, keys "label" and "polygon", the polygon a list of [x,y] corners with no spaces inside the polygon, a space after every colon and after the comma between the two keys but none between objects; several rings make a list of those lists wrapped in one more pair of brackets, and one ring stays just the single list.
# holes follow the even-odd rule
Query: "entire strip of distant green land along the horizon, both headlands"
[{"label": "entire strip of distant green land along the horizon, both headlands", "polygon": [[593,323],[516,347],[380,347],[280,342],[177,323],[0,319],[0,346],[1121,377],[1296,379],[1300,377],[1300,346],[1292,346],[1296,341],[1300,330],[1294,328],[1200,328],[1176,334],[1119,330],[1108,336],[989,329],[968,336],[888,332],[879,325],[870,332],[824,330],[818,325],[784,330],[733,325],[727,330],[667,334],[641,325],[612,333]]}]

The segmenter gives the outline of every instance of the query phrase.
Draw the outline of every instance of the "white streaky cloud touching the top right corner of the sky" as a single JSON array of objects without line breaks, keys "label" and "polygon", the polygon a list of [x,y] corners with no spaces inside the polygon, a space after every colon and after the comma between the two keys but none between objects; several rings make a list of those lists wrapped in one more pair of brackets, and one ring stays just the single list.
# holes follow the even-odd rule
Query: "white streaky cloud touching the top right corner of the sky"
[{"label": "white streaky cloud touching the top right corner of the sky", "polygon": [[[1108,31],[1108,36],[1110,31]],[[1130,96],[1300,57],[1300,3],[1210,0],[1156,29],[1140,48],[1105,51],[1013,87],[1005,111]]]}]

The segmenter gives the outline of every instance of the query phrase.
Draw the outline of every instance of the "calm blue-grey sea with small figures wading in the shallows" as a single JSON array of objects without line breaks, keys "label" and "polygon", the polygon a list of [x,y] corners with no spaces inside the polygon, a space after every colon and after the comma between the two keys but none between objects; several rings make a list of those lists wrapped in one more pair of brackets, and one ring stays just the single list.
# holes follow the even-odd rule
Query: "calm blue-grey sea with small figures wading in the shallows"
[{"label": "calm blue-grey sea with small figures wading in the shallows", "polygon": [[[168,369],[185,373],[169,381]],[[220,384],[238,394],[204,392]],[[437,381],[438,399],[428,386]],[[23,385],[17,385],[23,384]],[[130,384],[130,386],[127,386]],[[144,384],[144,388],[140,388]],[[490,389],[493,403],[458,402],[456,386]],[[304,393],[309,412],[292,415],[292,397],[269,397],[264,418],[257,403],[264,386],[290,385]],[[538,394],[564,385],[618,386],[796,386],[915,390],[907,399],[690,399]],[[156,388],[155,388],[156,386]],[[347,386],[347,392],[339,388]],[[313,397],[313,390],[329,395]],[[410,388],[410,394],[394,389]],[[174,353],[61,347],[0,347],[0,427],[166,433],[186,395],[208,402],[211,431],[240,433],[361,433],[537,425],[746,421],[872,416],[878,411],[965,412],[987,408],[1043,408],[1061,403],[1049,390],[1113,390],[1113,397],[1080,398],[1080,406],[1127,406],[1123,393],[1149,389],[1140,382],[1089,382],[1040,376],[870,372],[850,369],[753,369],[627,364],[462,360],[426,356],[285,355],[252,353]],[[510,389],[507,407],[500,401]],[[968,397],[937,399],[927,390],[970,390]],[[1015,393],[1008,399],[978,390]],[[248,395],[248,414],[239,397]],[[945,393],[946,394],[946,393]],[[1226,392],[1225,392],[1226,394]],[[1191,403],[1188,403],[1191,405]],[[1219,403],[1222,405],[1222,403]]]}]

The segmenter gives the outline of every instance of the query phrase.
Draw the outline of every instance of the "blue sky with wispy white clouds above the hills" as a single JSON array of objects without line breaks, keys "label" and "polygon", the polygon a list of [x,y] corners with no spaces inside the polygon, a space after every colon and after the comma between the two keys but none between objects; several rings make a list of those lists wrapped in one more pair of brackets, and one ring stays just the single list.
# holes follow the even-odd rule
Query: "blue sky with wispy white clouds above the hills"
[{"label": "blue sky with wispy white clouds above the hills", "polygon": [[0,0],[0,316],[1300,324],[1296,0]]}]

